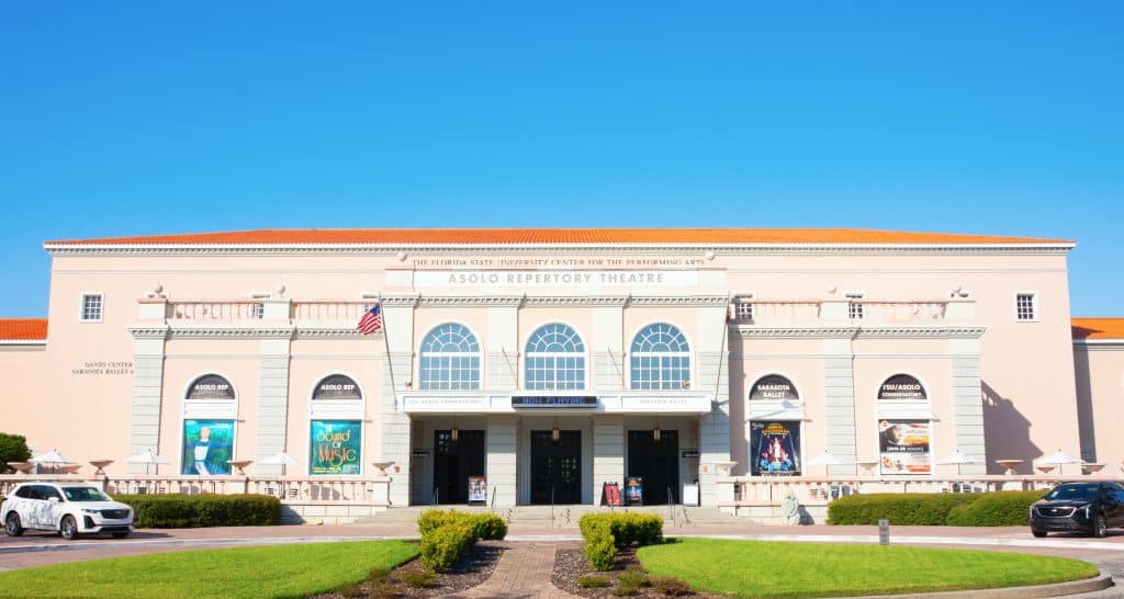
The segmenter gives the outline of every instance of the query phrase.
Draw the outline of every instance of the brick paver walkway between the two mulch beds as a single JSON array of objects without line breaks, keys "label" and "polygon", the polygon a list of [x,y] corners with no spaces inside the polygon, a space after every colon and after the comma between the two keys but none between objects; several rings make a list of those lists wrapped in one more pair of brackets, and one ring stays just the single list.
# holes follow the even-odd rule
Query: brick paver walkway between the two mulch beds
[{"label": "brick paver walkway between the two mulch beds", "polygon": [[443,599],[562,599],[578,597],[551,583],[554,571],[553,543],[519,543],[500,556],[496,571],[483,584]]}]

